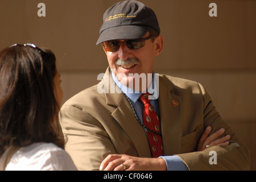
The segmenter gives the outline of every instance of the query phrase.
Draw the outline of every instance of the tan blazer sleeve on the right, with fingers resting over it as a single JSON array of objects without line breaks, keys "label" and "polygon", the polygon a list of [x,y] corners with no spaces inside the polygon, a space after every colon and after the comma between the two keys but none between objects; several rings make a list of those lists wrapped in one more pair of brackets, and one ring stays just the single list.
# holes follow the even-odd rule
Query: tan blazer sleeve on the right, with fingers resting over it
[{"label": "tan blazer sleeve on the right, with fingers resting over it", "polygon": [[[204,126],[211,126],[212,133],[220,128],[225,129],[225,134],[231,135],[230,145],[228,146],[214,146],[207,148],[200,152],[189,152],[186,154],[178,154],[183,163],[190,170],[249,170],[250,169],[250,154],[249,150],[243,146],[237,136],[225,122],[222,121],[221,116],[215,110],[213,102],[209,94],[201,84],[199,84],[203,95],[203,117]],[[217,164],[211,164],[209,161],[213,155],[211,151],[215,151]]]}]

